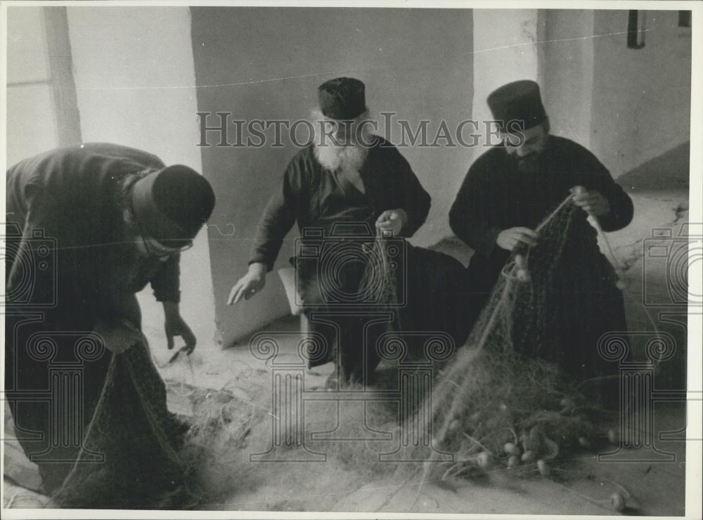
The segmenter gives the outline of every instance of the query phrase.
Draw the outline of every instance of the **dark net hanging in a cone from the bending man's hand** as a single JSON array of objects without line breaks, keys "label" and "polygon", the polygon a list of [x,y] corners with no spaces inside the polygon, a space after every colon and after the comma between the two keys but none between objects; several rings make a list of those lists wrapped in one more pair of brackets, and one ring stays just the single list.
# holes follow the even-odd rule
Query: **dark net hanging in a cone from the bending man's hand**
[{"label": "dark net hanging in a cone from the bending man's hand", "polygon": [[163,509],[200,502],[193,467],[181,453],[187,425],[170,413],[148,350],[110,354],[82,446],[65,464],[40,467],[45,484],[63,478],[51,499],[62,507]]}]

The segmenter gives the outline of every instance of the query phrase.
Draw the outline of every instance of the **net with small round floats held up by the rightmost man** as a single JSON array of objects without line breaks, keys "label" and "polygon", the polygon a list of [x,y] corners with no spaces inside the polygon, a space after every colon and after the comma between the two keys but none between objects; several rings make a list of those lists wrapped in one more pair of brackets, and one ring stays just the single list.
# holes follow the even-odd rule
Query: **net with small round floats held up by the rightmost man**
[{"label": "net with small round floats held up by the rightmost man", "polygon": [[[576,352],[579,329],[572,328],[573,318],[563,323],[576,312],[565,306],[579,286],[561,279],[574,278],[570,249],[580,232],[576,226],[587,225],[569,200],[536,228],[536,246],[512,255],[465,346],[441,370],[420,410],[436,447],[454,455],[452,462],[435,464],[441,478],[476,476],[496,463],[544,474],[546,461],[587,448],[600,436],[594,426],[600,400],[584,395],[582,381],[569,371],[569,358],[576,357],[579,368],[593,369],[579,375],[607,378],[595,342],[590,351]],[[587,270],[576,273],[586,286]]]}]

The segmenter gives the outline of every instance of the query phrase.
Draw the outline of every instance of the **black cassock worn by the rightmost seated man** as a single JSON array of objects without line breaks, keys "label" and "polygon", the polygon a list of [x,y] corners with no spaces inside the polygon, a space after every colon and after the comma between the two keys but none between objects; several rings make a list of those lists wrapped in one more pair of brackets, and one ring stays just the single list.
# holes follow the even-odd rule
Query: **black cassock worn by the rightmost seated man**
[{"label": "black cassock worn by the rightmost seated man", "polygon": [[[467,268],[472,320],[510,257],[496,244],[498,233],[513,227],[536,228],[574,186],[607,198],[610,214],[598,219],[602,230],[619,230],[632,220],[630,197],[591,152],[568,139],[549,136],[546,150],[530,171],[518,169],[516,156],[502,147],[491,148],[472,164],[449,215],[454,233],[475,250]],[[598,339],[606,332],[626,330],[617,278],[597,239],[586,212],[575,212],[559,266],[551,273],[552,304],[535,309],[552,315],[553,344],[526,347],[584,379],[612,372],[598,356]]]}]

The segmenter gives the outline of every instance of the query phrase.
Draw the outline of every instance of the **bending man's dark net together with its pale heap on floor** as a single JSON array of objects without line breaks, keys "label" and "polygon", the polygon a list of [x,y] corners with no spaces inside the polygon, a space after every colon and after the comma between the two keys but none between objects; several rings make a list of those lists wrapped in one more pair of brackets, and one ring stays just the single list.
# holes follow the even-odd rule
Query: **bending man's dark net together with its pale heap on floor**
[{"label": "bending man's dark net together with its pale heap on floor", "polygon": [[40,464],[47,507],[193,509],[254,485],[247,459],[266,449],[266,410],[227,388],[165,385],[148,356],[111,355],[81,448]]}]

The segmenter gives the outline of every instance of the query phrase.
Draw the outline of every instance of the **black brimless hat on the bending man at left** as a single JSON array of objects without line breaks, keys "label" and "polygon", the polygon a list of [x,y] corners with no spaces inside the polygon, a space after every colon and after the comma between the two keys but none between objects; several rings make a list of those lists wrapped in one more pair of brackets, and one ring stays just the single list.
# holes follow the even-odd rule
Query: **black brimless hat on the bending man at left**
[{"label": "black brimless hat on the bending man at left", "polygon": [[131,198],[141,230],[166,247],[183,247],[191,242],[215,205],[210,183],[182,164],[139,179]]}]

